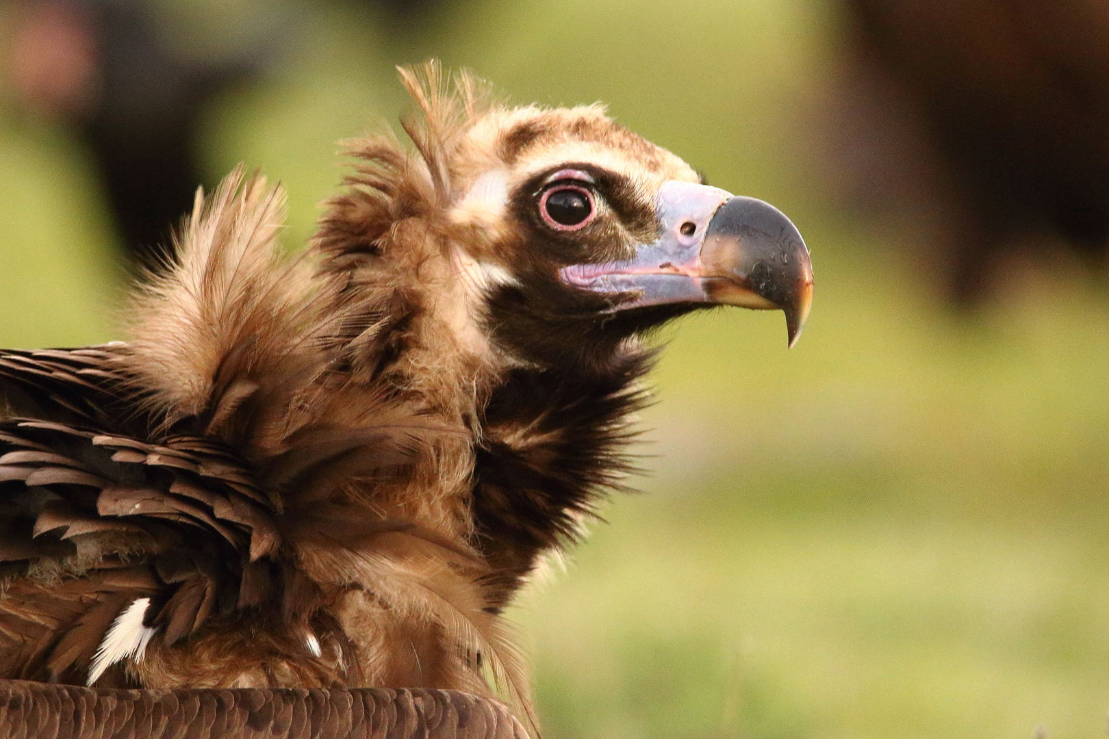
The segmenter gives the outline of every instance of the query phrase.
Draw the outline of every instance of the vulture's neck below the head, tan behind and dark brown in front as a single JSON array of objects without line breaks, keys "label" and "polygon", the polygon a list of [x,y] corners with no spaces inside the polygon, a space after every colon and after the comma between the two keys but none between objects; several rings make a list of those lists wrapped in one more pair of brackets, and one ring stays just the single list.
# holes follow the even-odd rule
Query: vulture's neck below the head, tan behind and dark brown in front
[{"label": "vulture's neck below the head, tan behind and dark brown in front", "polygon": [[[653,351],[633,338],[590,351],[582,345],[598,337],[588,330],[528,322],[521,341],[491,338],[495,276],[419,217],[365,217],[378,202],[364,193],[333,205],[317,249],[356,327],[352,380],[452,432],[407,484],[377,486],[366,503],[479,553],[494,571],[482,576],[486,602],[498,609],[545,553],[578,538],[608,491],[623,489]],[[520,359],[532,356],[528,337],[577,345],[532,363]]]}]

